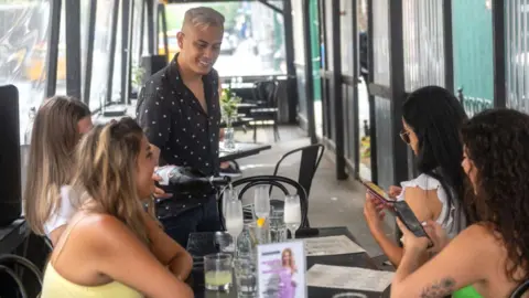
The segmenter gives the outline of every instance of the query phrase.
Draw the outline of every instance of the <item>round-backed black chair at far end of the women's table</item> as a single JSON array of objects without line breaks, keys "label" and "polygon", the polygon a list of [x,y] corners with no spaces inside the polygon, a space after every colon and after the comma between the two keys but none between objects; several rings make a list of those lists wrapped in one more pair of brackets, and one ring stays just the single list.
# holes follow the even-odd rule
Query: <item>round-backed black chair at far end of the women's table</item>
[{"label": "round-backed black chair at far end of the women's table", "polygon": [[[293,187],[296,191],[295,194],[300,196],[300,204],[301,204],[301,227],[310,227],[309,225],[309,205],[307,205],[307,196],[306,192],[303,189],[303,187],[295,182],[294,180],[287,178],[287,177],[281,177],[281,175],[253,175],[253,177],[247,177],[239,179],[233,183],[234,188],[240,188],[239,191],[239,200],[242,199],[242,195],[251,188],[257,187],[257,185],[273,185],[282,191],[284,195],[292,194],[289,192],[289,190],[285,188],[285,185]],[[223,228],[226,230],[225,226],[225,219],[223,215],[223,193],[220,193],[220,200],[218,200],[218,214],[220,216],[220,223],[223,225]],[[279,200],[270,200],[270,205],[276,206],[279,209],[283,207],[283,201]],[[244,210],[244,216],[245,220],[251,220],[253,219],[253,211],[252,211],[252,205],[248,209],[245,207]]]}]

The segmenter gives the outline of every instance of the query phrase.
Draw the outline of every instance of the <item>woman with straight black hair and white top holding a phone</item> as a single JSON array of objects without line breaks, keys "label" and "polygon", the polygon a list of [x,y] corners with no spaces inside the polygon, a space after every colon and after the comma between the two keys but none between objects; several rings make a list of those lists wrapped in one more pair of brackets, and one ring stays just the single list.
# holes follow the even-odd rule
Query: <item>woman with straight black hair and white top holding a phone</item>
[{"label": "woman with straight black hair and white top holding a phone", "polygon": [[[421,222],[436,221],[450,237],[466,222],[460,206],[464,194],[460,128],[466,119],[457,98],[442,87],[427,86],[411,93],[402,107],[400,137],[413,150],[419,175],[389,190],[391,196],[406,200]],[[382,231],[385,205],[369,193],[366,199],[364,215],[369,230],[397,267],[402,248]]]}]

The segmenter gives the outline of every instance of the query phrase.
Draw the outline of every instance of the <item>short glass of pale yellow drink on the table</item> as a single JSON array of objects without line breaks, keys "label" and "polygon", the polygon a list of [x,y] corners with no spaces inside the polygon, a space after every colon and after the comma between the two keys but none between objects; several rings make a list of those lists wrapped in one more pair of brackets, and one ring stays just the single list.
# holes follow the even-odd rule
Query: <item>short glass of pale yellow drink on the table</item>
[{"label": "short glass of pale yellow drink on the table", "polygon": [[204,256],[204,281],[208,290],[229,290],[231,286],[230,254],[210,254]]}]

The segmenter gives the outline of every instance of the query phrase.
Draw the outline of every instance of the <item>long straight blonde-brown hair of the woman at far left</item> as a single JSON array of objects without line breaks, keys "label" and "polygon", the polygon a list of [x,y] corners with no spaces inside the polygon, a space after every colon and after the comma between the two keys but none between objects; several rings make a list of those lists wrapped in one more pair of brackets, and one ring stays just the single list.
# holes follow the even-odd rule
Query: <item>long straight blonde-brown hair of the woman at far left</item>
[{"label": "long straight blonde-brown hair of the woman at far left", "polygon": [[36,113],[24,190],[25,217],[35,234],[44,235],[44,223],[61,207],[60,189],[71,182],[75,169],[77,125],[89,116],[85,104],[67,96],[45,100]]}]

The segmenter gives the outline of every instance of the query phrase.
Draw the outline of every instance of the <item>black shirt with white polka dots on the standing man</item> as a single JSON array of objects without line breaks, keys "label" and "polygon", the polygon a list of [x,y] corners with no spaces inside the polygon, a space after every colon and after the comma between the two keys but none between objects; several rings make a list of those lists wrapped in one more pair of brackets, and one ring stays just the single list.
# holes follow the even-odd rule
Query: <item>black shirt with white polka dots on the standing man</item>
[{"label": "black shirt with white polka dots on the standing man", "polygon": [[184,85],[176,56],[152,75],[138,98],[137,119],[149,141],[160,148],[161,164],[191,167],[218,174],[220,108],[218,74],[203,76],[207,113]]}]

